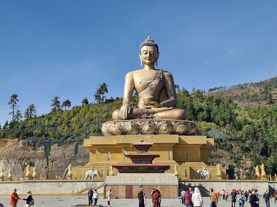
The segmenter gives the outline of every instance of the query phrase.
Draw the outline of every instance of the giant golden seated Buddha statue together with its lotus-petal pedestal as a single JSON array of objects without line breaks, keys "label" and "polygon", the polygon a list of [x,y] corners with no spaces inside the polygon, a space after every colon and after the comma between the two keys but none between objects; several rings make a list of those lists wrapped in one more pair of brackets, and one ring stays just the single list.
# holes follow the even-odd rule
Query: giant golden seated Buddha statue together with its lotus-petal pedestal
[{"label": "giant golden seated Buddha statue together with its lotus-petal pedestal", "polygon": [[[176,88],[170,72],[155,69],[159,59],[158,45],[148,37],[140,45],[139,57],[143,69],[127,73],[121,109],[113,112],[113,120],[102,124],[104,135],[178,134],[194,135],[196,125],[185,121],[187,113],[174,109]],[[137,108],[130,103],[138,95]]]}]

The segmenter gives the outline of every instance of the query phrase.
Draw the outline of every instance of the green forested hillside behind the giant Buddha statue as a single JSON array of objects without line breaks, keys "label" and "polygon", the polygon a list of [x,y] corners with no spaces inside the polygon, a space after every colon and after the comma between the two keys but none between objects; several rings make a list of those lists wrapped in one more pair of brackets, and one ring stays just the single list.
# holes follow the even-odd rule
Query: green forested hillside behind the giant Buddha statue
[{"label": "green forested hillside behind the giant Buddha statue", "polygon": [[[122,105],[122,98],[105,98],[108,88],[104,84],[99,84],[94,94],[96,103],[88,103],[85,97],[80,106],[71,108],[69,100],[60,104],[59,97],[55,97],[49,113],[37,117],[35,107],[30,105],[24,120],[21,112],[16,113],[18,100],[13,94],[10,102],[7,100],[13,121],[0,127],[0,138],[26,140],[33,149],[44,147],[47,158],[53,144],[74,143],[77,154],[83,139],[101,136],[101,124],[110,121],[112,112]],[[276,90],[276,78],[229,89],[216,87],[209,93],[194,88],[189,92],[177,86],[175,108],[186,110],[187,120],[196,122],[197,135],[215,138],[215,148],[210,150],[213,165],[219,162],[232,166],[238,178],[251,179],[253,166],[262,163],[267,174],[277,173]],[[134,95],[132,106],[136,103]]]}]

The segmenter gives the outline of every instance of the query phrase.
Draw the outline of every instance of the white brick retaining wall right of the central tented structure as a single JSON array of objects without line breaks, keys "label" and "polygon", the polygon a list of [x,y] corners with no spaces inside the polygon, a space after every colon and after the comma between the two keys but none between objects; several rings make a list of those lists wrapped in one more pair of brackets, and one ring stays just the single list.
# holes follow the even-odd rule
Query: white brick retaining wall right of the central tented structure
[{"label": "white brick retaining wall right of the central tented structure", "polygon": [[216,192],[219,190],[221,193],[222,189],[227,189],[228,193],[232,189],[248,191],[251,188],[257,188],[257,190],[262,194],[265,192],[265,189],[269,190],[270,194],[273,195],[274,191],[277,190],[277,182],[268,181],[268,180],[186,180],[182,182],[185,185],[191,187],[200,187],[209,191],[210,188]]}]

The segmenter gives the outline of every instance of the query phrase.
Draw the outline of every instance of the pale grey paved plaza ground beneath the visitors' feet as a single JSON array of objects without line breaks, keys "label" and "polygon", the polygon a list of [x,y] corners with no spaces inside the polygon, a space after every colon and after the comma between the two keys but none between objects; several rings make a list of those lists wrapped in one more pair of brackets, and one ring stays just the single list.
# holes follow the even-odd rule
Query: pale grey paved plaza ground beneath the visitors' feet
[{"label": "pale grey paved plaza ground beneath the visitors' feet", "polygon": [[[204,205],[203,207],[210,207],[210,197],[203,197]],[[75,206],[77,204],[88,204],[87,197],[73,197],[73,196],[62,196],[62,197],[34,197],[36,207],[66,207],[66,206]],[[146,199],[147,206],[152,206],[151,198]],[[0,197],[0,203],[4,205],[4,207],[9,207],[10,205],[10,197]],[[107,206],[107,199],[100,198],[97,202],[99,205]],[[110,201],[111,207],[112,206],[123,206],[123,207],[137,207],[138,200],[137,199],[112,199]],[[274,198],[271,200],[270,205],[272,207],[276,206],[274,204]],[[17,207],[24,207],[25,201],[19,200]],[[176,207],[182,206],[180,201],[177,199],[162,199],[161,206],[167,207]],[[245,207],[250,207],[249,203],[245,203]],[[227,201],[219,201],[218,207],[231,207],[231,202]],[[238,203],[236,203],[236,207],[238,207]],[[265,201],[261,199],[260,207],[265,207]]]}]

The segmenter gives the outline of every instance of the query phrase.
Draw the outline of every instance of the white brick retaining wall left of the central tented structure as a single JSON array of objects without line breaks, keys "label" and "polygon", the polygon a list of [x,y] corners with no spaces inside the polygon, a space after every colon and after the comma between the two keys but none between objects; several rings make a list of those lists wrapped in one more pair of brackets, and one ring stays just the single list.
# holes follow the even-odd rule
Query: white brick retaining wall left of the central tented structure
[{"label": "white brick retaining wall left of the central tented structure", "polygon": [[[7,196],[14,188],[20,195],[26,195],[27,190],[32,194],[70,194],[77,193],[86,187],[97,187],[102,181],[93,180],[23,180],[23,181],[1,181],[0,195]],[[103,192],[99,192],[103,193]]]}]

